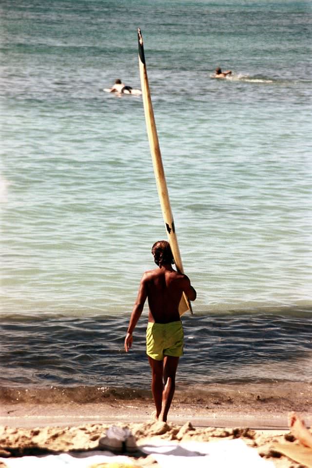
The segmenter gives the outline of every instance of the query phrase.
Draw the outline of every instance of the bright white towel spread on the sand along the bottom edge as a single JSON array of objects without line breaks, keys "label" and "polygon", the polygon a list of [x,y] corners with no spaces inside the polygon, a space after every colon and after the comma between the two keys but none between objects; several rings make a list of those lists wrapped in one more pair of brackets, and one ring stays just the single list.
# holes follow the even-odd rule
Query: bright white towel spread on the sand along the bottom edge
[{"label": "bright white towel spread on the sand along the bottom edge", "polygon": [[[181,443],[153,440],[138,448],[152,455],[160,468],[274,468],[273,462],[261,458],[255,448],[248,447],[241,439]],[[97,463],[136,462],[133,457],[100,451],[0,458],[0,461],[8,468],[89,468]]]}]

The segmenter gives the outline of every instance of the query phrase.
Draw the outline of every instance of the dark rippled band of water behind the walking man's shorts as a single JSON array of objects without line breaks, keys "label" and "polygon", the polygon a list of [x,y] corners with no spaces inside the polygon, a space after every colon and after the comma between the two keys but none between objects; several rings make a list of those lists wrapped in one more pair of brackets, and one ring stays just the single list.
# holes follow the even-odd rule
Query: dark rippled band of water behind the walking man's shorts
[{"label": "dark rippled band of water behind the walking man's shorts", "polygon": [[[1,327],[2,385],[148,389],[146,321],[126,354],[126,319],[11,317]],[[180,385],[312,381],[311,317],[185,316],[183,327]]]}]

